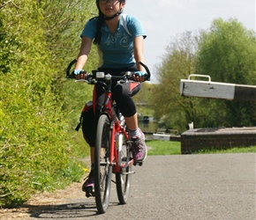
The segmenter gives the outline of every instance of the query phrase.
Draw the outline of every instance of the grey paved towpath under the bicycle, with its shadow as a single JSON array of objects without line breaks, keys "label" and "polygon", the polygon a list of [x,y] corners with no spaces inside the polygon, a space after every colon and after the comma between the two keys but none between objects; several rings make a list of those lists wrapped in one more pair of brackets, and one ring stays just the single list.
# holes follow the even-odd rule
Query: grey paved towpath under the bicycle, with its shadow
[{"label": "grey paved towpath under the bicycle, with its shadow", "polygon": [[26,219],[255,220],[255,155],[148,157],[134,167],[126,205],[118,205],[112,184],[109,209],[97,215],[79,183],[62,202],[28,207]]}]

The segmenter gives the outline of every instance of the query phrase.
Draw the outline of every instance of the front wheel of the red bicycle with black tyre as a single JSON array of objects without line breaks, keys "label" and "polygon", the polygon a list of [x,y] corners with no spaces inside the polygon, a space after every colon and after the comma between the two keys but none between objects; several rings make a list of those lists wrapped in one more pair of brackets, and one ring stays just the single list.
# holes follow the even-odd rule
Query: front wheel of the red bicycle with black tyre
[{"label": "front wheel of the red bicycle with black tyre", "polygon": [[107,115],[98,121],[94,150],[94,194],[99,214],[109,207],[112,166],[109,165],[110,124]]}]

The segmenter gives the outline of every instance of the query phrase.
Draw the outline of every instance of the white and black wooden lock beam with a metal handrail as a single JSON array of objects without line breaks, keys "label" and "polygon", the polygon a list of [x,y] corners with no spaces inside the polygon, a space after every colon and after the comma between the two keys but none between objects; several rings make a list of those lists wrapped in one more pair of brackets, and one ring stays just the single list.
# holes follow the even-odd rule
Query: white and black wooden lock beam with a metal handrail
[{"label": "white and black wooden lock beam with a metal handrail", "polygon": [[[207,77],[208,80],[192,80],[191,77]],[[207,75],[192,74],[188,79],[180,80],[180,94],[188,97],[256,101],[256,85],[212,82]]]}]

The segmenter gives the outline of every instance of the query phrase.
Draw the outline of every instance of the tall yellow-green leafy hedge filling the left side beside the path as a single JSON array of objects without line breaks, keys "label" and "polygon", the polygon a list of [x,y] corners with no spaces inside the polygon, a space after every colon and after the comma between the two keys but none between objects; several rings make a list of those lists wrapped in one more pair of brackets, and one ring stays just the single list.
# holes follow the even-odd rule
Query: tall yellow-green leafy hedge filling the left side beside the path
[{"label": "tall yellow-green leafy hedge filling the left side beside the path", "polygon": [[[70,142],[71,105],[64,105],[60,67],[67,64],[65,55],[73,56],[66,51],[75,40],[67,39],[78,33],[71,26],[80,20],[72,24],[66,15],[77,15],[88,2],[94,1],[63,3],[66,7],[56,11],[56,19],[49,19],[49,12],[59,2],[0,5],[0,205],[25,202],[37,191],[80,180],[84,172],[76,162],[79,146]],[[64,37],[54,35],[60,36],[61,30]]]}]

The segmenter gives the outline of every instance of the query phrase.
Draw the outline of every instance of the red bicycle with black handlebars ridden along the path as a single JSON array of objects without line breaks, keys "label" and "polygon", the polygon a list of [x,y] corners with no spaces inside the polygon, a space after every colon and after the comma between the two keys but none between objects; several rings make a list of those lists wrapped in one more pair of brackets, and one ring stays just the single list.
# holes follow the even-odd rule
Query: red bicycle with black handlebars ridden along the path
[{"label": "red bicycle with black handlebars ridden along the path", "polygon": [[[70,73],[72,61],[67,69],[67,78],[73,78]],[[139,62],[147,71],[146,80],[150,80],[147,66]],[[94,192],[96,207],[99,214],[105,213],[109,206],[112,173],[116,175],[117,197],[120,204],[126,204],[130,194],[132,180],[132,165],[142,165],[132,158],[132,141],[126,131],[124,116],[117,109],[112,99],[111,84],[118,81],[125,84],[132,80],[132,72],[123,76],[111,76],[98,70],[93,74],[87,73],[85,80],[88,84],[101,84],[105,91],[105,101],[97,123],[94,150]],[[81,80],[79,80],[81,81]]]}]

